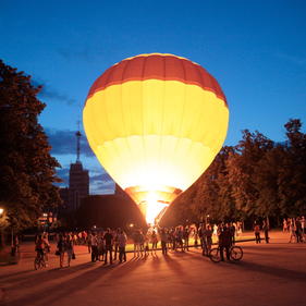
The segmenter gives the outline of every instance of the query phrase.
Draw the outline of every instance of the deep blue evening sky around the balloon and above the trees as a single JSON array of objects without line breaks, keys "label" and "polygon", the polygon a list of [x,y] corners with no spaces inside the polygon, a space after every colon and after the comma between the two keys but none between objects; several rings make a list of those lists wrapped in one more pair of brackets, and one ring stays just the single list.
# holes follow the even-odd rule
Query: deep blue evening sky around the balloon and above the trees
[{"label": "deep blue evening sky around the balloon and above the trees", "polygon": [[[77,121],[93,82],[139,53],[188,58],[207,69],[230,105],[225,145],[241,131],[284,139],[306,114],[306,1],[0,0],[0,58],[44,85],[40,115],[66,180]],[[83,139],[91,193],[112,189]]]}]

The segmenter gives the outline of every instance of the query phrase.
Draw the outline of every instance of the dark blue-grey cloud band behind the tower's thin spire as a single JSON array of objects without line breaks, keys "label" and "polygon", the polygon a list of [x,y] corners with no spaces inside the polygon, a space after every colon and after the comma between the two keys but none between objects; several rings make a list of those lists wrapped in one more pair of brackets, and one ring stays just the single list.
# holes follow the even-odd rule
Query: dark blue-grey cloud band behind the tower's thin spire
[{"label": "dark blue-grey cloud band behind the tower's thin spire", "polygon": [[[52,147],[52,155],[76,155],[75,131],[46,128],[46,134]],[[81,154],[86,157],[94,157],[86,137],[81,137]]]}]

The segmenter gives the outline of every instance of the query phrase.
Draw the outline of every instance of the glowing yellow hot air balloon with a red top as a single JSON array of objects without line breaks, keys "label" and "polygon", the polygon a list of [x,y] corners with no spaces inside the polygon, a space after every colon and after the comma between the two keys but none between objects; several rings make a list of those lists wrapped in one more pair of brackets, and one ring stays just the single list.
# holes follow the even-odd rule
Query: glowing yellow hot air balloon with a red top
[{"label": "glowing yellow hot air balloon with a red top", "polygon": [[221,149],[229,108],[199,64],[150,53],[125,59],[98,77],[83,121],[102,167],[154,223]]}]

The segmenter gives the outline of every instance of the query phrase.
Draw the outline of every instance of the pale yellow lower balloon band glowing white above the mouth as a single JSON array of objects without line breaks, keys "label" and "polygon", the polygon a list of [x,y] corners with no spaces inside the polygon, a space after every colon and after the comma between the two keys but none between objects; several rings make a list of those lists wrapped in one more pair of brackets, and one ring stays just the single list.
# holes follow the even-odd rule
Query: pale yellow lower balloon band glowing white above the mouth
[{"label": "pale yellow lower balloon band glowing white above the mouth", "polygon": [[95,151],[123,188],[171,186],[186,189],[206,170],[215,154],[200,143],[174,136],[130,136],[106,142]]}]

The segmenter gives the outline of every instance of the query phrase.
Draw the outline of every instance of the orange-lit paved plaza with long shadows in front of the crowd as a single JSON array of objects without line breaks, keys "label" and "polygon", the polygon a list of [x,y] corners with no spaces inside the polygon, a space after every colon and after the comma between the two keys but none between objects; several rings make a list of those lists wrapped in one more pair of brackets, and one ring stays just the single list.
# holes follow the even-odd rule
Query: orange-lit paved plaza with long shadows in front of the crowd
[{"label": "orange-lit paved plaza with long shadows in front of the crowd", "polygon": [[105,266],[90,262],[76,246],[70,268],[33,268],[34,245],[22,246],[19,265],[0,267],[0,305],[103,306],[305,306],[306,244],[289,244],[287,234],[271,233],[271,243],[240,243],[241,262],[213,264],[200,249],[161,252]]}]

